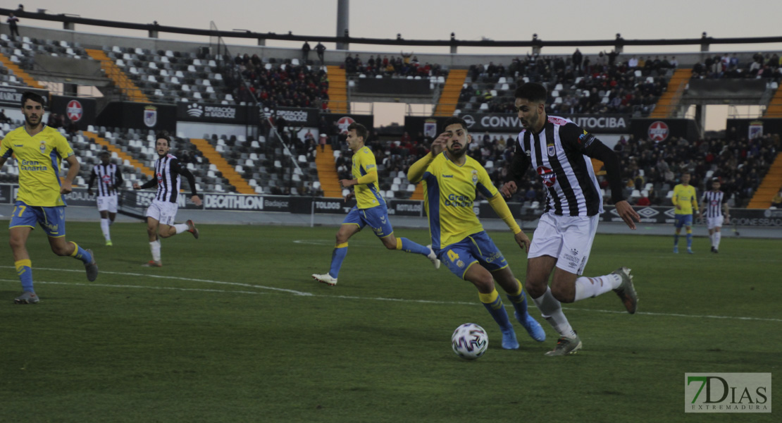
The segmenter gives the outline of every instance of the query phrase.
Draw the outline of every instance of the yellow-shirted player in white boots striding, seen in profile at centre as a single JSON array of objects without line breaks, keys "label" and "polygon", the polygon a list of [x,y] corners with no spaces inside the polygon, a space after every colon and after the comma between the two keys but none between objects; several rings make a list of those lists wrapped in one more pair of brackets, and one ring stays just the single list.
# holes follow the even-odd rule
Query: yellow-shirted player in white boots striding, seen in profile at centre
[{"label": "yellow-shirted player in white boots striding, seen in profile at centre", "polygon": [[378,168],[375,165],[375,155],[364,145],[368,131],[362,124],[353,122],[348,127],[347,144],[353,150],[353,179],[343,179],[339,183],[343,187],[354,186],[356,206],[347,213],[342,226],[336,235],[336,246],[332,252],[332,266],[326,274],[313,274],[316,281],[328,285],[336,285],[339,269],[347,255],[347,240],[364,226],[369,226],[380,238],[387,249],[401,249],[405,253],[418,253],[432,261],[439,268],[436,254],[428,246],[421,246],[407,238],[396,238],[389,221],[386,200],[380,195],[378,187]]}]

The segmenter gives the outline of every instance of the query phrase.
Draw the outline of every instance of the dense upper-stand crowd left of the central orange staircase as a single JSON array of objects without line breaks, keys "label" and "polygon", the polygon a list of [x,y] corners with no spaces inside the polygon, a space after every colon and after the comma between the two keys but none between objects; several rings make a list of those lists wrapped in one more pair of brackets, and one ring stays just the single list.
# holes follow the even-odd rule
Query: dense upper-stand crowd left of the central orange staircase
[{"label": "dense upper-stand crowd left of the central orange staircase", "polygon": [[[237,55],[234,59],[239,77],[227,77],[237,102],[253,102],[253,96],[264,107],[315,107],[328,109],[328,73],[319,67],[288,63],[266,66],[258,55]],[[242,84],[249,83],[249,88]]]}]

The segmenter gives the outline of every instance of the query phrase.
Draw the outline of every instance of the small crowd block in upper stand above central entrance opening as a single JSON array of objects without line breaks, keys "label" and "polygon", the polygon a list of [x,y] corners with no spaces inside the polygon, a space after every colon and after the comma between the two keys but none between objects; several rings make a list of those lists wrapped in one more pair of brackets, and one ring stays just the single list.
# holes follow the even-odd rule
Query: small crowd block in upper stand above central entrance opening
[{"label": "small crowd block in upper stand above central entrance opening", "polygon": [[348,74],[364,73],[368,77],[396,76],[396,77],[439,77],[447,72],[438,64],[420,63],[418,57],[412,53],[401,53],[402,56],[369,56],[366,62],[358,53],[353,56],[348,54],[345,58],[345,72]]}]

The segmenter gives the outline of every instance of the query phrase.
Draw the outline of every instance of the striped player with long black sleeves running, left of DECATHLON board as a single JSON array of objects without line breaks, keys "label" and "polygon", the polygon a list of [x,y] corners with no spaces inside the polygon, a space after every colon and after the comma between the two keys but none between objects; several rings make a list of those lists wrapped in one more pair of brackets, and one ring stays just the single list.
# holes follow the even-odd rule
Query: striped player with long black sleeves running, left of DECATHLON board
[{"label": "striped player with long black sleeves running, left of DECATHLON board", "polygon": [[[201,205],[201,198],[195,191],[195,177],[186,167],[180,166],[175,156],[168,154],[170,150],[170,137],[167,131],[160,131],[155,137],[155,149],[158,159],[155,160],[155,177],[145,182],[144,185],[133,184],[133,189],[152,188],[157,186],[155,199],[147,208],[147,235],[149,235],[149,249],[152,251],[152,260],[144,263],[146,267],[162,267],[160,260],[160,238],[168,238],[182,232],[190,232],[198,239],[199,231],[192,220],[184,224],[174,224],[177,217],[177,197],[181,185],[180,175],[188,178],[192,196],[190,199],[196,206]],[[160,229],[160,231],[159,231]]]}]

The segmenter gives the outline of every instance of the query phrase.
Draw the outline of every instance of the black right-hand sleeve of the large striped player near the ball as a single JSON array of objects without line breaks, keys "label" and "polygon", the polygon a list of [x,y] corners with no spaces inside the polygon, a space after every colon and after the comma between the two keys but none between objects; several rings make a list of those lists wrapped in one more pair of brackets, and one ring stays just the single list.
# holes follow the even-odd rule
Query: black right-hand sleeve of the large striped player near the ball
[{"label": "black right-hand sleeve of the large striped player near the ball", "polygon": [[605,177],[608,179],[608,186],[611,187],[613,203],[616,204],[625,199],[622,195],[622,168],[619,156],[616,156],[612,149],[576,124],[566,124],[561,127],[559,137],[563,145],[575,148],[584,156],[603,162]]}]

